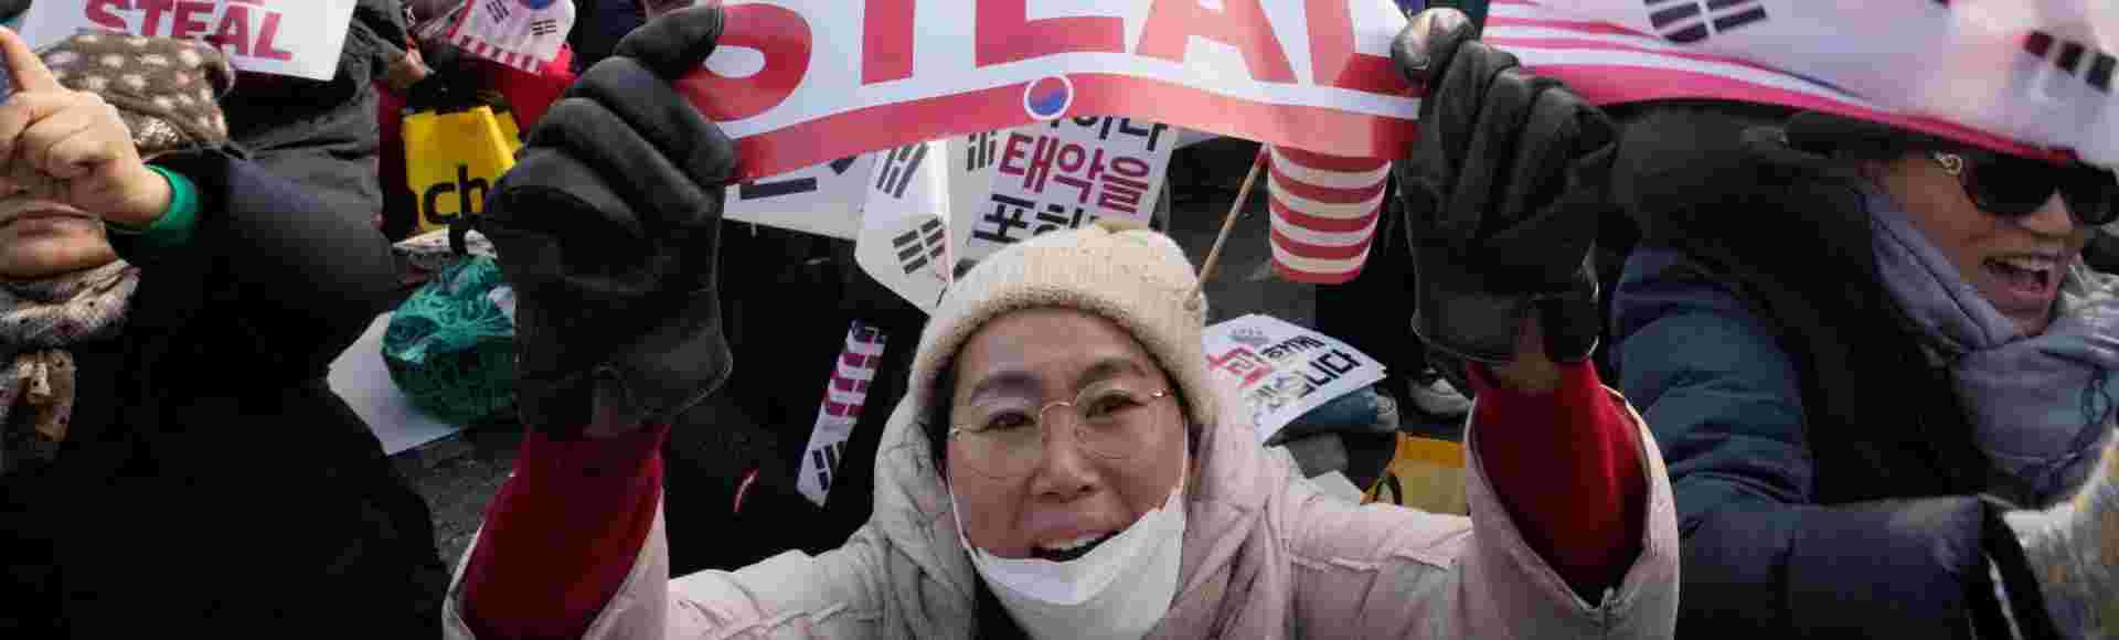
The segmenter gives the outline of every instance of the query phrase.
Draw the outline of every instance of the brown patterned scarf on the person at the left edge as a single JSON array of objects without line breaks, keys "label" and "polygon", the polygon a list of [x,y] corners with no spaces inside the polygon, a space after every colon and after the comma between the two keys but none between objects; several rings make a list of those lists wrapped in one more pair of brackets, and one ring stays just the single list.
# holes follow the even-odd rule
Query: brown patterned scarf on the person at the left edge
[{"label": "brown patterned scarf on the person at the left edge", "polygon": [[140,269],[125,261],[0,282],[0,475],[57,456],[74,417],[68,348],[117,335],[138,288]]}]

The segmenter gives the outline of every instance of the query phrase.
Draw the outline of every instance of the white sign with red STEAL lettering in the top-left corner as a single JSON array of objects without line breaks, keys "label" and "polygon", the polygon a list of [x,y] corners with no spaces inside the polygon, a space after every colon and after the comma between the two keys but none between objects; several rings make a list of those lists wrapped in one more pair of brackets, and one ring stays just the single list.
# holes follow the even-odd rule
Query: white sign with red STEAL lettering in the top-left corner
[{"label": "white sign with red STEAL lettering in the top-left corner", "polygon": [[23,15],[30,47],[89,32],[206,40],[235,68],[331,81],[356,0],[38,0]]}]

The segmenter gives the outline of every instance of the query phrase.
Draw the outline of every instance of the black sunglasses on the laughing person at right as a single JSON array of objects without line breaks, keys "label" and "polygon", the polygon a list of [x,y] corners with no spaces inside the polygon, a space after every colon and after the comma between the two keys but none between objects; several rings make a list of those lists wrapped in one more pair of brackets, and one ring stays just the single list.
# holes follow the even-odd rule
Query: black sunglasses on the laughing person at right
[{"label": "black sunglasses on the laughing person at right", "polygon": [[2053,165],[2028,157],[1958,150],[1935,153],[1943,172],[1964,184],[1964,195],[1979,210],[1996,216],[2024,216],[2036,212],[2045,201],[2068,203],[2075,220],[2098,227],[2119,218],[2119,178],[2113,172],[2087,163]]}]

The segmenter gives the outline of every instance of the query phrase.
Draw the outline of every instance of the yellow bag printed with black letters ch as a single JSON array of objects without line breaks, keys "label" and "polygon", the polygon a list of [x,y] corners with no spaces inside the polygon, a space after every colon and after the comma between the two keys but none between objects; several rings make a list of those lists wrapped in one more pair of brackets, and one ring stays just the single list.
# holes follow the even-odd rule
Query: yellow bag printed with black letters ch
[{"label": "yellow bag printed with black letters ch", "polygon": [[405,178],[420,208],[415,233],[477,214],[494,180],[515,167],[517,146],[489,106],[405,117]]}]

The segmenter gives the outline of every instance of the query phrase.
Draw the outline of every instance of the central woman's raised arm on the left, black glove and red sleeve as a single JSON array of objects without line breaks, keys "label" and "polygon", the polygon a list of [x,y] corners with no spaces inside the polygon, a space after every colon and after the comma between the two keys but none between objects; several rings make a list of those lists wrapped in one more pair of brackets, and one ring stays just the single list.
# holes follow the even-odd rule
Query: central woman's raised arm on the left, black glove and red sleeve
[{"label": "central woman's raised arm on the left, black glove and red sleeve", "polygon": [[[475,218],[517,290],[532,432],[462,576],[481,638],[589,629],[651,543],[667,424],[731,373],[714,273],[735,144],[672,85],[720,28],[701,6],[625,36]],[[665,593],[634,595],[627,615],[659,617]]]}]

